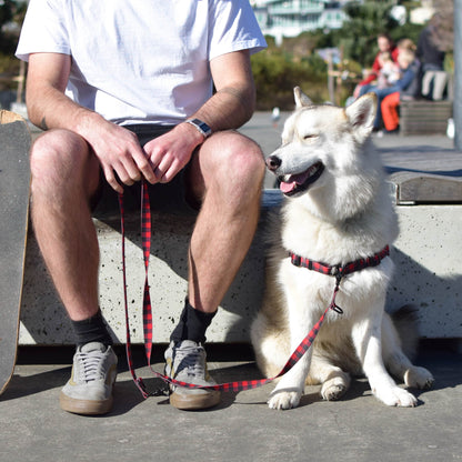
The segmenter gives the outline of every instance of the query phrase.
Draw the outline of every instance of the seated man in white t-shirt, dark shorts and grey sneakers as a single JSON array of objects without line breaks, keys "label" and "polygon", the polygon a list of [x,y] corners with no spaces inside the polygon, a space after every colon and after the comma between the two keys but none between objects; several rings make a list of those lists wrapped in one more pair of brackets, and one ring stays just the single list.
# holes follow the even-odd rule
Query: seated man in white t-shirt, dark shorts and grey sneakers
[{"label": "seated man in white t-shirt, dark shorts and grey sneakers", "polygon": [[[66,411],[112,406],[117,356],[98,305],[91,211],[103,188],[127,193],[142,179],[155,203],[199,211],[165,370],[212,383],[205,330],[258,223],[263,157],[233,129],[253,112],[250,53],[263,47],[248,0],[30,1],[17,56],[29,61],[29,118],[46,130],[31,150],[32,222],[77,335]],[[185,389],[170,398],[179,409],[219,400]]]}]

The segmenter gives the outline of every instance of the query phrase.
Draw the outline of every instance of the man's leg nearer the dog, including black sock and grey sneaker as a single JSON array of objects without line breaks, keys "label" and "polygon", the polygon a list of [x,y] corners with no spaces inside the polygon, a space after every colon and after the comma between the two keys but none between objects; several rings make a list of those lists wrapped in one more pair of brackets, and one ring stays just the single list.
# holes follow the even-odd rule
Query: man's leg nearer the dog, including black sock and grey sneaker
[{"label": "man's leg nearer the dog, including black sock and grey sneaker", "polygon": [[[194,195],[202,200],[189,250],[189,303],[165,351],[165,372],[195,384],[214,383],[207,373],[205,329],[241,265],[257,229],[264,174],[260,148],[228,131],[215,133],[193,155],[190,168]],[[214,390],[171,388],[178,409],[211,408]]]}]

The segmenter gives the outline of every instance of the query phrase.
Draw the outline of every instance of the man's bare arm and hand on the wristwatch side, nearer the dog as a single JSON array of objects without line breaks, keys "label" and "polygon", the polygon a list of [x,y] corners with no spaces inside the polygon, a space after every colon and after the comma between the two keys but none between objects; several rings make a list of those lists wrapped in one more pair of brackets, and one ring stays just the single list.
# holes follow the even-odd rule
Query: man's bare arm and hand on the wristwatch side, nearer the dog
[{"label": "man's bare arm and hand on the wristwatch side, nearer the dog", "polygon": [[[191,117],[205,122],[212,132],[237,129],[251,118],[255,107],[250,53],[242,50],[217,57],[210,68],[217,92]],[[203,141],[203,135],[189,123],[180,123],[150,141],[144,149],[158,181],[171,181]]]}]

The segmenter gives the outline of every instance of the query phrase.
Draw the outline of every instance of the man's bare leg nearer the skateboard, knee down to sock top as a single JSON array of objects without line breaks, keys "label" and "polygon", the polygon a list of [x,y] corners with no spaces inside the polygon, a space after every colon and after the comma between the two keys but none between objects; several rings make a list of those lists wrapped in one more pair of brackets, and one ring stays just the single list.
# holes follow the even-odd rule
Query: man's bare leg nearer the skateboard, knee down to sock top
[{"label": "man's bare leg nearer the skateboard, knee down to sock top", "polygon": [[89,199],[99,164],[83,139],[50,131],[31,150],[32,222],[57,291],[73,321],[98,312],[99,248]]}]

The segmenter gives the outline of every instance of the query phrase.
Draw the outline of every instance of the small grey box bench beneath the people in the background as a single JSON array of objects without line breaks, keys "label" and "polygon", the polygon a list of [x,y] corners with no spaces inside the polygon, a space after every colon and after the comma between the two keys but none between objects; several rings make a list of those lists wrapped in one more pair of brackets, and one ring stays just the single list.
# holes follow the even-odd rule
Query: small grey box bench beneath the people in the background
[{"label": "small grey box bench beneath the people in the background", "polygon": [[400,134],[444,134],[452,118],[452,101],[401,101]]}]

